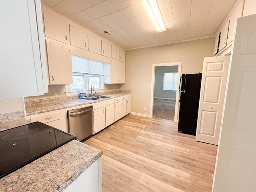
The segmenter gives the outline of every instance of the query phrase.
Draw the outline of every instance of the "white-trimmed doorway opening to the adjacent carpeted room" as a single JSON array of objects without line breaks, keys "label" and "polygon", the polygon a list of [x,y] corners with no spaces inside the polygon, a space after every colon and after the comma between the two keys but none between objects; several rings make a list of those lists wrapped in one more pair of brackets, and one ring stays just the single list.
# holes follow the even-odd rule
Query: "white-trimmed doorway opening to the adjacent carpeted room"
[{"label": "white-trimmed doorway opening to the adjacent carpeted room", "polygon": [[181,62],[152,65],[150,117],[178,122],[178,77],[180,75]]}]

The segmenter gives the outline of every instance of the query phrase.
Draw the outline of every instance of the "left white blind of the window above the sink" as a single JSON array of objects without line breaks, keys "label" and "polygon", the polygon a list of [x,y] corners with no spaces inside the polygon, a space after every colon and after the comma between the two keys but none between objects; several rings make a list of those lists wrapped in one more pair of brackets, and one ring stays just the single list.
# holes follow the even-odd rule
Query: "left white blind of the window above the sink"
[{"label": "left white blind of the window above the sink", "polygon": [[90,73],[89,59],[72,55],[72,72]]}]

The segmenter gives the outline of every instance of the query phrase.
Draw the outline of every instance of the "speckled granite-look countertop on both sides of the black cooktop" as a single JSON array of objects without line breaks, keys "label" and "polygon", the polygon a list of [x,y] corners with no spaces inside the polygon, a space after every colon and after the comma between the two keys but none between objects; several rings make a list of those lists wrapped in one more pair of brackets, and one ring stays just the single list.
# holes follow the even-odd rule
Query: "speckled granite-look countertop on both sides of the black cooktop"
[{"label": "speckled granite-look countertop on both sides of the black cooktop", "polygon": [[[28,124],[25,119],[0,124],[0,131]],[[72,140],[0,179],[0,192],[62,192],[102,156],[102,151]]]}]

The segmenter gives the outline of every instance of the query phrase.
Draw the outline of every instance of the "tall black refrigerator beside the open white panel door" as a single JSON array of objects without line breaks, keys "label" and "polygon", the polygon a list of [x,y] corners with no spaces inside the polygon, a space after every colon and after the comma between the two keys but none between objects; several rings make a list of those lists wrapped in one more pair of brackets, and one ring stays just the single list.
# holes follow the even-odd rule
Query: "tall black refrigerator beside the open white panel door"
[{"label": "tall black refrigerator beside the open white panel door", "polygon": [[202,73],[180,77],[178,132],[196,135],[201,80]]}]

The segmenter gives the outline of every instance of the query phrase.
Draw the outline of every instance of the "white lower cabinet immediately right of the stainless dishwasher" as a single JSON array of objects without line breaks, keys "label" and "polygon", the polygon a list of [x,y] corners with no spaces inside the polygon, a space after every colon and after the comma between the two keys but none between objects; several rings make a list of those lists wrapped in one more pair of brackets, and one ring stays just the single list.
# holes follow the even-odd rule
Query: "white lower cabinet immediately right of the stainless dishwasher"
[{"label": "white lower cabinet immediately right of the stainless dishwasher", "polygon": [[92,108],[93,134],[95,134],[106,128],[105,103],[96,103]]}]

